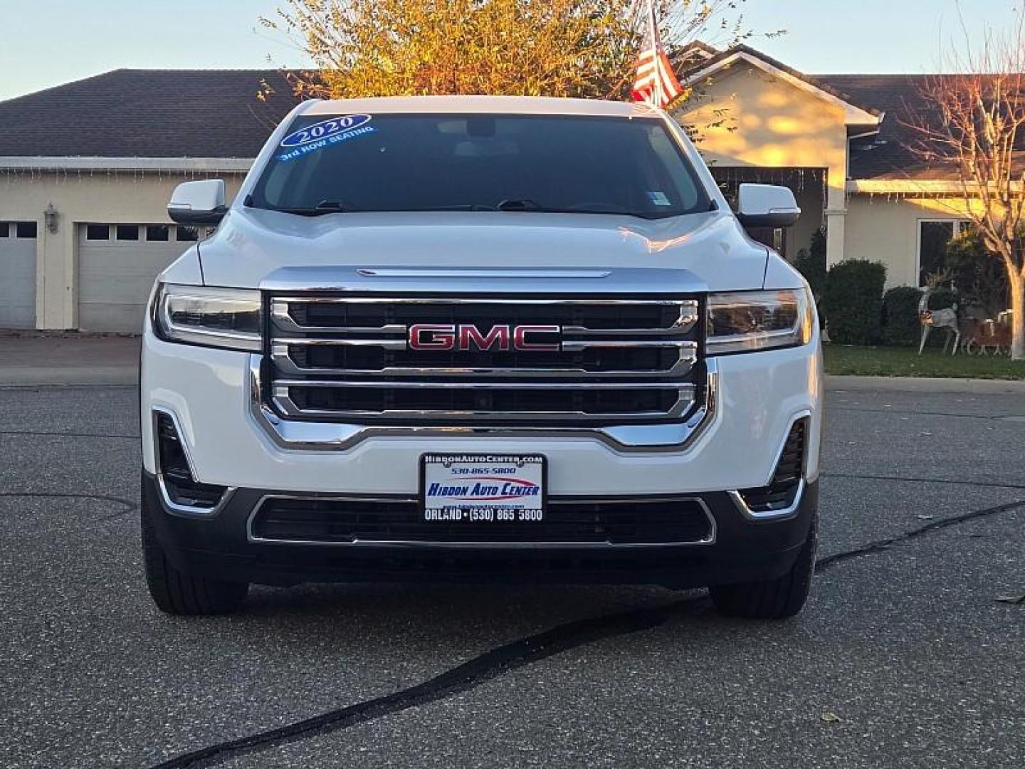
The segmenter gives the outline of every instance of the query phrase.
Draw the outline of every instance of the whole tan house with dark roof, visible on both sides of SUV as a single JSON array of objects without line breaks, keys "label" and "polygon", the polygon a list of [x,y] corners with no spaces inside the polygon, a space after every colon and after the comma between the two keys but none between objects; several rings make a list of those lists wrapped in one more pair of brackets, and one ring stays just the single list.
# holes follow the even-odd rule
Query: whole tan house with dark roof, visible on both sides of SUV
[{"label": "whole tan house with dark roof, visible on both sides of SUV", "polygon": [[[681,66],[699,96],[675,117],[727,194],[797,196],[797,226],[760,239],[792,257],[825,226],[830,264],[881,260],[891,285],[937,267],[963,201],[905,146],[921,77],[810,77],[746,46]],[[0,103],[0,328],[136,331],[156,274],[205,234],[167,218],[173,188],[221,177],[233,195],[294,104],[274,71],[141,70]]]}]

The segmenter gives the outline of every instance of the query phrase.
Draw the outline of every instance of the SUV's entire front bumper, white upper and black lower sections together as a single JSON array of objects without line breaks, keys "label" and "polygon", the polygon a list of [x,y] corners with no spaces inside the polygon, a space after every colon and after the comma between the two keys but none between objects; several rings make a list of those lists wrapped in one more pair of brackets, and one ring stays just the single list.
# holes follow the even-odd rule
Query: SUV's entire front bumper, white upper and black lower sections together
[{"label": "SUV's entire front bumper, white upper and black lower sections together", "polygon": [[[817,335],[802,348],[716,359],[713,413],[686,442],[657,447],[624,447],[587,431],[529,429],[363,431],[355,441],[321,438],[322,428],[345,426],[315,426],[316,440],[299,434],[295,442],[283,441],[302,423],[283,424],[276,435],[261,421],[252,387],[255,358],[171,345],[149,329],[142,339],[142,493],[168,558],[187,572],[270,584],[407,579],[724,584],[773,578],[789,569],[817,507],[822,412]],[[173,415],[195,481],[235,489],[215,514],[182,516],[164,503],[155,475],[150,418],[155,410]],[[730,492],[769,484],[797,419],[808,420],[799,503],[789,515],[755,520]],[[264,542],[248,536],[249,517],[271,494],[416,496],[419,458],[428,452],[544,454],[549,501],[693,497],[713,518],[714,537],[684,544],[494,548]]]}]

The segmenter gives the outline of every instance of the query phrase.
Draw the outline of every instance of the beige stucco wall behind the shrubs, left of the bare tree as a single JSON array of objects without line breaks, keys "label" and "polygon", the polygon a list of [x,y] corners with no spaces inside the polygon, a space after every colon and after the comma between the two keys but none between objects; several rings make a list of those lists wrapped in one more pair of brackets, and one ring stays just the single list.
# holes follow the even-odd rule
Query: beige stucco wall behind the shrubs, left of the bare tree
[{"label": "beige stucco wall behind the shrubs, left of the bare tree", "polygon": [[848,201],[848,258],[881,261],[887,287],[918,284],[918,222],[961,219],[963,198],[901,198],[852,195]]}]

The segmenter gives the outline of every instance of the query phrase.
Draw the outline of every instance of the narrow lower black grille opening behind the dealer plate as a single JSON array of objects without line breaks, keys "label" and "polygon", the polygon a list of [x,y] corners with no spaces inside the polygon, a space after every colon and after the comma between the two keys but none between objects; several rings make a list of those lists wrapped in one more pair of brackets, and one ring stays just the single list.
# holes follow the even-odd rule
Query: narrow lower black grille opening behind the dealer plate
[{"label": "narrow lower black grille opening behind the dealer plate", "polygon": [[415,501],[268,497],[250,523],[254,539],[325,543],[481,542],[666,544],[712,538],[697,499],[551,499],[534,523],[423,521]]}]

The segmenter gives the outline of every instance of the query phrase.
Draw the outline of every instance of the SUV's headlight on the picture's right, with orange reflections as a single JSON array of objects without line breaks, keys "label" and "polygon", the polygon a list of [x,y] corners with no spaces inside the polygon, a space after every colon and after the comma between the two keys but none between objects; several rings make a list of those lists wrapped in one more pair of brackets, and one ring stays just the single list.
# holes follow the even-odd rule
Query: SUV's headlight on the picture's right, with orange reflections
[{"label": "SUV's headlight on the picture's right, with orange reflections", "polygon": [[737,291],[708,297],[708,355],[807,345],[815,324],[805,289]]}]

